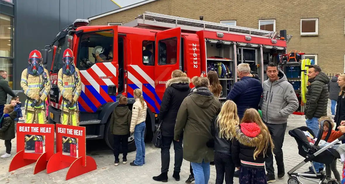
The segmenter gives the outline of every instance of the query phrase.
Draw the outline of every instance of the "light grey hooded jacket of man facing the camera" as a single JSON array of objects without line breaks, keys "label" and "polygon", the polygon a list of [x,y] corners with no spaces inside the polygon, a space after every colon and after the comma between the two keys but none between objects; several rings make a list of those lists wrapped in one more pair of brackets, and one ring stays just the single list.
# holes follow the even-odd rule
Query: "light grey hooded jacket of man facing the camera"
[{"label": "light grey hooded jacket of man facing the camera", "polygon": [[292,84],[279,70],[279,79],[267,79],[263,84],[262,119],[270,124],[287,123],[290,114],[298,108],[298,99]]}]

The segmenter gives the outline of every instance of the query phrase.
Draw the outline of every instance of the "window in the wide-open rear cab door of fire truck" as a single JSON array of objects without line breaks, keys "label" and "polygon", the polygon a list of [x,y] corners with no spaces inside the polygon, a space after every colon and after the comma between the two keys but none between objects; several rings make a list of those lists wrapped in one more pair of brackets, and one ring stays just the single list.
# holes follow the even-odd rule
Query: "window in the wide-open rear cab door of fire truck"
[{"label": "window in the wide-open rear cab door of fire truck", "polygon": [[177,38],[160,40],[158,42],[158,52],[159,65],[175,64],[177,61]]}]

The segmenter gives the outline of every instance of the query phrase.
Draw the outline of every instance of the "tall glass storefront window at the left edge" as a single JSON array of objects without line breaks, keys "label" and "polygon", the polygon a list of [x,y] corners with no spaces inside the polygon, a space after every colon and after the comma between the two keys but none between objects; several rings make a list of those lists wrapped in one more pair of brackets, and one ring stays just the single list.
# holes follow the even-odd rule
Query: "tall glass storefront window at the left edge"
[{"label": "tall glass storefront window at the left edge", "polygon": [[[12,0],[6,2],[13,3]],[[0,70],[7,71],[7,80],[13,89],[13,60],[14,60],[14,12],[13,6],[0,2]]]}]

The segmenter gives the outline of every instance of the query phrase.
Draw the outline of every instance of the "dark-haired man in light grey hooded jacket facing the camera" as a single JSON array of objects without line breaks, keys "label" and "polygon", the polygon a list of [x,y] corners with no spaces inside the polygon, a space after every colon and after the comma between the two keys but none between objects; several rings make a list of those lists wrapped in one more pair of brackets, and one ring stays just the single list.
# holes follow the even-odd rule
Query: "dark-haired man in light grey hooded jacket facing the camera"
[{"label": "dark-haired man in light grey hooded jacket facing the camera", "polygon": [[[268,63],[266,73],[269,79],[263,84],[262,119],[272,136],[277,174],[281,179],[285,175],[282,147],[287,119],[298,108],[298,99],[292,84],[287,81],[276,63]],[[275,182],[273,155],[268,157],[265,163],[267,183]]]}]

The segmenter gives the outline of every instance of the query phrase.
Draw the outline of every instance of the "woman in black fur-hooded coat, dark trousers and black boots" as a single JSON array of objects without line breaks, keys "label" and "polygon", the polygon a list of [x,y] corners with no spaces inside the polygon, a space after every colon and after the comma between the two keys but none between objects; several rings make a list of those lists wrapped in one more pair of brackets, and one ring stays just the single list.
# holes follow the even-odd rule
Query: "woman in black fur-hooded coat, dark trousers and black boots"
[{"label": "woman in black fur-hooded coat, dark trousers and black boots", "polygon": [[176,123],[177,112],[182,101],[190,93],[190,79],[186,73],[181,70],[174,70],[171,73],[171,79],[166,83],[166,90],[163,95],[159,110],[159,120],[161,124],[162,148],[161,148],[161,174],[154,176],[153,180],[166,182],[168,180],[168,171],[170,163],[170,145],[174,143],[175,151],[175,167],[172,177],[176,181],[180,180],[180,170],[183,161],[182,137],[180,141],[174,141],[174,129]]}]

